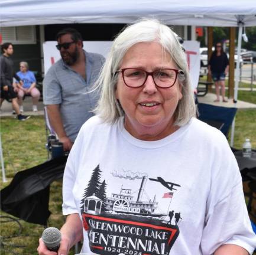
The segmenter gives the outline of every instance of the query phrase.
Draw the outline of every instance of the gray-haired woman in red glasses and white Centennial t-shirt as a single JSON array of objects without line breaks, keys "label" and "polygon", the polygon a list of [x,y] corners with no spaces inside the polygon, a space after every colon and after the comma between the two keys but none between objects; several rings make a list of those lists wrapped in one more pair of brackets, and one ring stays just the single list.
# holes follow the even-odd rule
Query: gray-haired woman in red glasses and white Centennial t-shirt
[{"label": "gray-haired woman in red glasses and white Centennial t-shirt", "polygon": [[[155,20],[125,28],[96,83],[63,178],[58,254],[248,254],[241,175],[225,136],[195,118],[182,46]],[[174,217],[173,217],[174,216]],[[40,238],[39,254],[47,251]]]}]

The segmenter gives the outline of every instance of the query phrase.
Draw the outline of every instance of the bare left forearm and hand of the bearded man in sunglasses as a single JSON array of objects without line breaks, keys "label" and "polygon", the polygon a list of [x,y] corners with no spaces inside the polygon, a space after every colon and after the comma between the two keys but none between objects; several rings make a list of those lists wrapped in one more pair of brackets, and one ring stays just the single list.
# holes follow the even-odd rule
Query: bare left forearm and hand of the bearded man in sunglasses
[{"label": "bare left forearm and hand of the bearded man in sunglasses", "polygon": [[56,132],[60,142],[63,143],[64,151],[70,151],[72,148],[72,141],[67,137],[67,134],[63,127],[63,122],[60,115],[60,106],[59,104],[48,104],[47,105],[47,114],[50,120],[50,124]]}]

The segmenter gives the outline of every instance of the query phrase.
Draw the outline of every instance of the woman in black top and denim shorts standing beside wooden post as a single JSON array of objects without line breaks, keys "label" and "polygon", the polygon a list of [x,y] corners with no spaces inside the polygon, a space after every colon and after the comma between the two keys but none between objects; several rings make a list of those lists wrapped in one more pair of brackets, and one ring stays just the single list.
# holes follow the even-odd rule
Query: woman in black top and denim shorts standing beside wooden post
[{"label": "woman in black top and denim shorts standing beside wooden post", "polygon": [[214,102],[219,102],[219,87],[221,87],[222,102],[228,102],[225,99],[225,77],[228,74],[228,64],[228,56],[223,51],[223,45],[221,42],[217,42],[208,65],[208,73],[212,76],[212,80],[215,83],[217,99]]}]

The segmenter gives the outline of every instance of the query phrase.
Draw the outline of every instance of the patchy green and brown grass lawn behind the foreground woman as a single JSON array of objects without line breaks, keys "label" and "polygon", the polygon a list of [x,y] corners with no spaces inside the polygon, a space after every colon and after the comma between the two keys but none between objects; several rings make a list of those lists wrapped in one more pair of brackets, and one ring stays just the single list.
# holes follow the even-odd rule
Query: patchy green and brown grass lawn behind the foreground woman
[{"label": "patchy green and brown grass lawn behind the foreground woman", "polygon": [[[242,91],[241,100],[256,102],[256,94],[250,91]],[[245,138],[250,138],[252,146],[256,148],[256,109],[238,110],[235,125],[235,148],[241,149]],[[31,168],[47,160],[45,149],[46,131],[44,118],[31,117],[25,122],[18,122],[13,117],[1,118],[1,138],[4,152],[5,172],[8,182],[2,182],[1,189],[6,187],[13,176],[24,169]],[[53,182],[50,188],[49,209],[51,216],[49,226],[60,228],[64,223],[61,215],[61,182]],[[2,216],[10,216],[1,212]],[[44,230],[41,225],[26,223],[18,220],[12,222],[7,218],[1,218],[1,254],[37,254],[38,238]],[[19,233],[19,223],[22,226]],[[73,251],[70,252],[73,254]]]}]

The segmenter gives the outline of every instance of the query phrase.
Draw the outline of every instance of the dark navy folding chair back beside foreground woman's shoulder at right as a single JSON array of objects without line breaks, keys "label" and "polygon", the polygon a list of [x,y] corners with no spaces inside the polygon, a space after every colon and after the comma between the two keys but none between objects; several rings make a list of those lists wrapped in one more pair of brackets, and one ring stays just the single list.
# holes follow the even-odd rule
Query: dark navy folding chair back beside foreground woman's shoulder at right
[{"label": "dark navy folding chair back beside foreground woman's shoulder at right", "polygon": [[211,126],[215,126],[215,128],[221,130],[221,132],[228,137],[228,131],[237,110],[235,107],[222,107],[199,103],[197,104],[197,109],[199,112],[199,120]]}]

